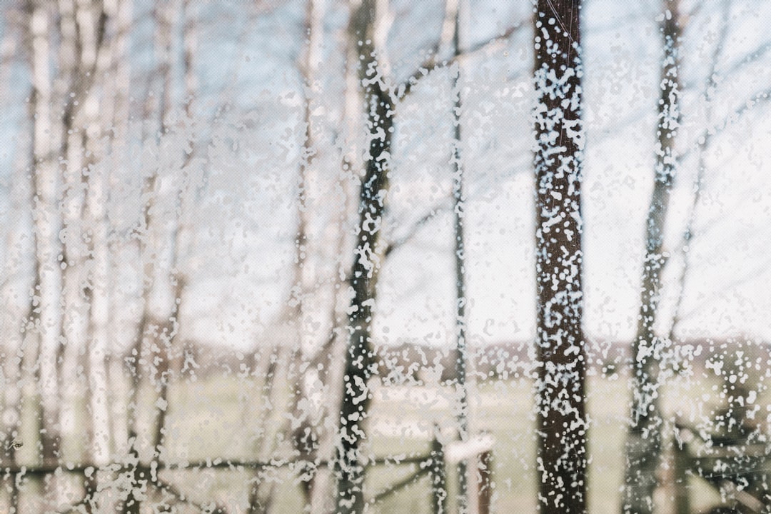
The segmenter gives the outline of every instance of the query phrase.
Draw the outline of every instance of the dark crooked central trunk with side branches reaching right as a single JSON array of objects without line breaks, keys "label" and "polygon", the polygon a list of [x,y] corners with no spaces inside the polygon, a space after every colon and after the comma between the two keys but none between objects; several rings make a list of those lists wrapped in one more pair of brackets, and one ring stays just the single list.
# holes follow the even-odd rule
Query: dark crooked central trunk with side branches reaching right
[{"label": "dark crooked central trunk with side branches reaching right", "polygon": [[369,153],[359,193],[354,263],[349,279],[353,291],[348,316],[348,348],[340,409],[340,433],[335,459],[338,514],[362,512],[364,466],[362,442],[369,416],[369,378],[376,367],[372,348],[372,316],[385,244],[382,223],[389,190],[389,164],[394,102],[383,75],[385,55],[381,48],[387,35],[388,8],[382,0],[363,0],[352,12],[349,44],[359,45],[362,81],[369,131]]}]

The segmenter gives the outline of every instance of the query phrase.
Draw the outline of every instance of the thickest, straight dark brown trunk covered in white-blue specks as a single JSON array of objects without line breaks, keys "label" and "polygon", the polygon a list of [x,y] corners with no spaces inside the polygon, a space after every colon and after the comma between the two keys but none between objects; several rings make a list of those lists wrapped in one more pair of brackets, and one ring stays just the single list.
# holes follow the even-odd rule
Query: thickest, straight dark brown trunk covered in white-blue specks
[{"label": "thickest, straight dark brown trunk covered in white-blue specks", "polygon": [[538,0],[534,18],[538,504],[561,514],[587,511],[580,12]]}]

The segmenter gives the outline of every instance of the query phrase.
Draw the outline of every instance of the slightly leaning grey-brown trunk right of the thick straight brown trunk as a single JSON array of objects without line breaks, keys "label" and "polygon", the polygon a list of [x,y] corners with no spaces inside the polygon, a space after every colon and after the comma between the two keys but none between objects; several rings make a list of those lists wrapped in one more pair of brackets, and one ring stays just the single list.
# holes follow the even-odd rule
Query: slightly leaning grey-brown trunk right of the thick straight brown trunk
[{"label": "slightly leaning grey-brown trunk right of the thick straight brown trunk", "polygon": [[640,313],[632,343],[631,425],[626,442],[625,493],[621,512],[651,514],[657,486],[656,470],[662,454],[662,413],[658,398],[661,341],[655,334],[655,319],[666,264],[664,230],[669,195],[675,180],[675,136],[680,120],[678,0],[665,0],[661,33],[661,97],[658,102],[653,193],[645,220]]}]

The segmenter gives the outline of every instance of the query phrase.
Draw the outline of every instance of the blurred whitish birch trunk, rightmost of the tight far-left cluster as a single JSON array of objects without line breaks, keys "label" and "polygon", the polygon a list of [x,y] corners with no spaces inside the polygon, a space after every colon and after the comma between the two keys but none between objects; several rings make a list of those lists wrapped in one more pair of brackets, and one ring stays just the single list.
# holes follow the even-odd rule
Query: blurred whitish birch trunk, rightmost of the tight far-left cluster
[{"label": "blurred whitish birch trunk, rightmost of the tight far-left cluster", "polygon": [[[126,8],[128,7],[128,10]],[[89,365],[89,407],[93,424],[93,438],[89,438],[91,461],[97,466],[109,462],[115,449],[115,412],[112,396],[116,388],[109,377],[108,361],[111,354],[109,337],[113,322],[113,302],[115,284],[111,280],[113,273],[113,245],[109,242],[109,185],[113,179],[113,170],[120,169],[120,157],[112,156],[116,141],[125,142],[124,121],[119,108],[125,102],[126,85],[116,82],[128,77],[123,70],[126,62],[126,39],[130,24],[130,0],[115,0],[94,4],[91,21],[96,29],[93,46],[96,49],[96,61],[93,63],[93,82],[98,82],[101,97],[96,91],[89,94],[83,102],[84,148],[91,170],[87,180],[86,210],[84,219],[89,223],[89,254],[86,266],[86,284],[89,295],[89,326],[86,363]],[[126,18],[128,15],[128,18]],[[112,30],[109,30],[112,29]],[[111,36],[106,39],[106,33]],[[84,42],[84,45],[88,42]],[[112,76],[112,77],[111,77]],[[112,78],[113,80],[109,80]],[[117,86],[117,87],[116,87]],[[94,85],[91,89],[96,89]],[[120,128],[118,128],[120,126]],[[98,127],[98,129],[94,129]],[[123,439],[120,439],[123,440]],[[96,479],[91,482],[96,491]]]}]

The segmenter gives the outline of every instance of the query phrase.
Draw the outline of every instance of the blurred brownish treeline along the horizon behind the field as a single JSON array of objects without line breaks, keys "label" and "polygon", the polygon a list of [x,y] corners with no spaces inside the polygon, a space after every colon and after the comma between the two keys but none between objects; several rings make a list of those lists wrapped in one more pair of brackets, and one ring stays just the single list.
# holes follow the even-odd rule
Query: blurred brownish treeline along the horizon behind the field
[{"label": "blurred brownish treeline along the horizon behind the field", "polygon": [[[629,341],[591,339],[587,341],[590,373],[612,375],[627,368],[631,358]],[[662,361],[674,371],[726,368],[740,358],[745,365],[771,367],[771,344],[749,337],[692,338],[661,343]],[[284,349],[285,350],[285,349]],[[402,341],[375,348],[377,375],[386,384],[421,385],[453,381],[458,352],[454,348],[433,347]],[[183,345],[180,370],[183,376],[205,378],[211,375],[251,375],[265,370],[266,361],[289,358],[291,351],[271,346],[258,351],[238,351],[197,341]],[[512,380],[534,375],[532,341],[499,341],[469,348],[466,356],[469,376],[477,381]]]}]

